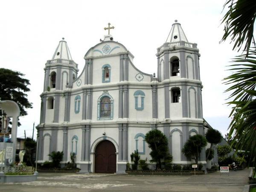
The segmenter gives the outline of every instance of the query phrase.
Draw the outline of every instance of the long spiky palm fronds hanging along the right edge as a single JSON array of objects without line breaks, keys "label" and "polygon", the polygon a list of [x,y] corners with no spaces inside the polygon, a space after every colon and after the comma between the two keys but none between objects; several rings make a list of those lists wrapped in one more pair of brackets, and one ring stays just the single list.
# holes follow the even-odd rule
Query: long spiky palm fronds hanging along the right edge
[{"label": "long spiky palm fronds hanging along the right edge", "polygon": [[[255,0],[227,0],[224,8],[228,7],[227,13],[222,19],[225,23],[224,35],[221,41],[231,37],[235,42],[233,49],[244,45],[243,55],[236,57],[231,65],[232,75],[224,78],[225,84],[229,84],[227,91],[231,91],[232,99],[228,104],[233,105],[230,117],[229,137],[233,136],[232,145],[236,151],[243,148],[250,151],[250,163],[256,166],[256,49],[253,38],[253,25],[256,18]],[[253,46],[251,44],[253,43]]]}]

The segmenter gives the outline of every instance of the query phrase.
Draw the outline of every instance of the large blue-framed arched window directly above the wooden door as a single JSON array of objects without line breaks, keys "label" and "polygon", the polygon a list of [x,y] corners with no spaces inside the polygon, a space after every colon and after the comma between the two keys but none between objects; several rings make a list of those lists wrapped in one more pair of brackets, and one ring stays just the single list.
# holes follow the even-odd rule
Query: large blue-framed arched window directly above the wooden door
[{"label": "large blue-framed arched window directly above the wooden door", "polygon": [[113,119],[113,99],[103,94],[98,99],[98,120]]}]

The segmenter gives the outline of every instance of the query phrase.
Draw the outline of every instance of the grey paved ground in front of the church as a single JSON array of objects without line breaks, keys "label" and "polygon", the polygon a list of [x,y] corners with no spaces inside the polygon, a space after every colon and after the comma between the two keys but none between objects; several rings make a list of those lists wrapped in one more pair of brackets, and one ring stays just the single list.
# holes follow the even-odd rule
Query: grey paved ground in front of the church
[{"label": "grey paved ground in front of the church", "polygon": [[0,192],[242,192],[249,169],[192,176],[41,173],[29,183],[1,183]]}]

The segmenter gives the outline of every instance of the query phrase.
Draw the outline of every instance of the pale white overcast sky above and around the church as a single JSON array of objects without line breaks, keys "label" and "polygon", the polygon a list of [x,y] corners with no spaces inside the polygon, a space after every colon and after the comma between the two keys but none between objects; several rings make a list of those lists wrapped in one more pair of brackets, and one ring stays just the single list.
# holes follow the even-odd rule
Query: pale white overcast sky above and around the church
[{"label": "pale white overcast sky above and around the church", "polygon": [[[181,23],[191,43],[197,43],[201,81],[204,85],[204,118],[227,133],[230,107],[222,81],[231,58],[230,42],[219,44],[220,25],[225,0],[8,0],[0,2],[0,67],[17,70],[29,79],[28,99],[33,109],[20,117],[17,137],[32,136],[33,122],[40,119],[40,94],[44,85],[44,66],[65,38],[73,60],[84,67],[84,55],[107,34],[103,28],[111,23],[114,41],[135,56],[135,66],[145,73],[157,73],[157,47],[165,43],[174,20]],[[36,131],[34,134],[36,137]]]}]

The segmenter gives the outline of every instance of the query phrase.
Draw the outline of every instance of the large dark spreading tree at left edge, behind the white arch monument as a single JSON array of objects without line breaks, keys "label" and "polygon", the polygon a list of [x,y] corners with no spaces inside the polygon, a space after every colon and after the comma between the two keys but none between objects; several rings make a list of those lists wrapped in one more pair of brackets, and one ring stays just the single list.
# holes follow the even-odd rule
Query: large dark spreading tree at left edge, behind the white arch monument
[{"label": "large dark spreading tree at left edge, behind the white arch monument", "polygon": [[0,68],[0,98],[1,100],[15,101],[20,107],[20,116],[27,115],[26,108],[32,108],[26,92],[29,92],[29,80],[23,78],[24,74]]}]

